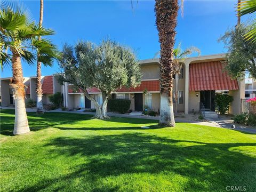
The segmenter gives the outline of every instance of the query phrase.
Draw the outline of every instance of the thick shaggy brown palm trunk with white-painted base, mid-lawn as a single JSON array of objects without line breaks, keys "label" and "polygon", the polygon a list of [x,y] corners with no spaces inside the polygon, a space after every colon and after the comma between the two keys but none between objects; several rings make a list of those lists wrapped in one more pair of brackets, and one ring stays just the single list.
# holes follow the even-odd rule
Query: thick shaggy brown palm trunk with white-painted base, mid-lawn
[{"label": "thick shaggy brown palm trunk with white-painted base, mid-lawn", "polygon": [[161,45],[161,110],[159,124],[166,126],[175,126],[172,102],[172,62],[178,10],[178,0],[156,0],[156,26]]}]

